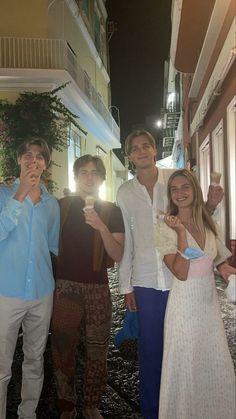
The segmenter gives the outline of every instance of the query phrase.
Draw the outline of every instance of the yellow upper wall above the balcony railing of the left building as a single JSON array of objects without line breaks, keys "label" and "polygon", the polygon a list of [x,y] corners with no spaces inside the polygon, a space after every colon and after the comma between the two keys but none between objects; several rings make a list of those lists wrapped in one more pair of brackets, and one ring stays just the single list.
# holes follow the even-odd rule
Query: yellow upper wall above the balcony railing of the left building
[{"label": "yellow upper wall above the balcony railing of the left building", "polygon": [[48,9],[47,0],[1,0],[0,36],[65,39],[74,50],[81,67],[108,106],[108,85],[96,64],[79,26],[63,1]]}]

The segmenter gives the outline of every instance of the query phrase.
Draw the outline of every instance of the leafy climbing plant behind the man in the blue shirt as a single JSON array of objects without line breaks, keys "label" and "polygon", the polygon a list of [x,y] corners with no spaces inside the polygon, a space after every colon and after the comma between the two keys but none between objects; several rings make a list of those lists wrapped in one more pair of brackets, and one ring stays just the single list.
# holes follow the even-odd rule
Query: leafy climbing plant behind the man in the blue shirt
[{"label": "leafy climbing plant behind the man in the blue shirt", "polygon": [[[26,137],[41,137],[51,151],[62,151],[67,147],[71,124],[86,134],[77,122],[78,116],[57,96],[66,84],[52,91],[21,93],[15,103],[0,100],[0,176],[19,175],[16,149]],[[45,180],[52,191],[55,184],[49,172],[45,172]]]}]

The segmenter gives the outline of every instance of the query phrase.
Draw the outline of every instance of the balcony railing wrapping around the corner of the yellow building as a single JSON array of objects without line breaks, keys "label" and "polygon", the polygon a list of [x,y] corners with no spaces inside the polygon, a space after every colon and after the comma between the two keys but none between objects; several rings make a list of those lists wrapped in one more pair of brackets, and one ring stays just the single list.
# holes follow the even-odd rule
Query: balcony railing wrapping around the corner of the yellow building
[{"label": "balcony railing wrapping around the corner of the yellow building", "polygon": [[120,128],[63,39],[0,38],[0,68],[66,70],[116,138]]}]

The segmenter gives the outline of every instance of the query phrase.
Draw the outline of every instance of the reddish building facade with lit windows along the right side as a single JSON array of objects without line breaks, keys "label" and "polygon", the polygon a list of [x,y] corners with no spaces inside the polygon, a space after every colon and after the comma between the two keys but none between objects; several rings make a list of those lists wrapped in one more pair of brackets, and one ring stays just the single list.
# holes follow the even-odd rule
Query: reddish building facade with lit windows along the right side
[{"label": "reddish building facade with lit windows along the right side", "polygon": [[205,199],[210,173],[221,173],[219,224],[236,266],[235,27],[235,0],[173,0],[169,82],[179,75],[181,91],[175,140]]}]

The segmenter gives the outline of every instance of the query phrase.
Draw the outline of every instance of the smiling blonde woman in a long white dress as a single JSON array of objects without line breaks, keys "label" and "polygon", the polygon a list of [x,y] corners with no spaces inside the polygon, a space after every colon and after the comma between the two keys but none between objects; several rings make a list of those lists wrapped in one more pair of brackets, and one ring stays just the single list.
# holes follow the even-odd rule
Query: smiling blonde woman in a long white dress
[{"label": "smiling blonde woman in a long white dress", "polygon": [[187,170],[172,174],[157,251],[174,274],[165,316],[159,419],[235,419],[235,376],[214,282],[236,269]]}]

